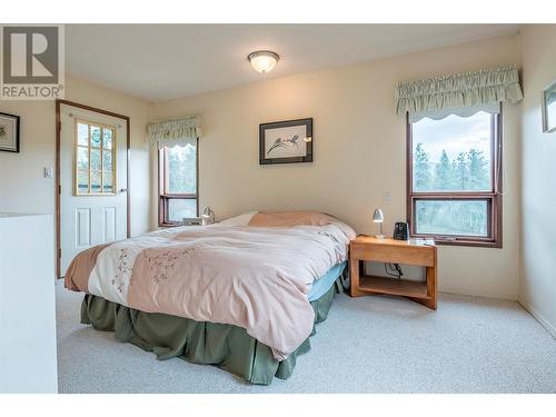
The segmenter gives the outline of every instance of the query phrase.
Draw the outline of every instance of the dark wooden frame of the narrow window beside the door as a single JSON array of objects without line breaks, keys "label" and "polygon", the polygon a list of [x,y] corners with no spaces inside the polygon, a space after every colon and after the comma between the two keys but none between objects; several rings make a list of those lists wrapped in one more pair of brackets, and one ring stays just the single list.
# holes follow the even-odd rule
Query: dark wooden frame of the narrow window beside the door
[{"label": "dark wooden frame of the narrow window beside the door", "polygon": [[196,192],[195,193],[170,193],[166,192],[168,185],[168,147],[158,150],[158,226],[173,227],[179,226],[177,221],[170,221],[168,218],[168,206],[172,199],[196,200],[196,217],[199,217],[199,138],[195,146],[195,170],[196,170]]}]

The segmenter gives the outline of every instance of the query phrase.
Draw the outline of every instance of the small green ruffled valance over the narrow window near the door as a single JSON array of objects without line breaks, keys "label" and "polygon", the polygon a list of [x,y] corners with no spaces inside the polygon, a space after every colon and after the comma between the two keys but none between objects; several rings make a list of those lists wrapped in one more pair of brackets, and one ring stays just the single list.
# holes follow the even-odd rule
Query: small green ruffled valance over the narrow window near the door
[{"label": "small green ruffled valance over the narrow window near the door", "polygon": [[201,136],[200,119],[197,116],[188,116],[157,121],[147,126],[147,132],[149,142],[159,149],[195,145]]}]

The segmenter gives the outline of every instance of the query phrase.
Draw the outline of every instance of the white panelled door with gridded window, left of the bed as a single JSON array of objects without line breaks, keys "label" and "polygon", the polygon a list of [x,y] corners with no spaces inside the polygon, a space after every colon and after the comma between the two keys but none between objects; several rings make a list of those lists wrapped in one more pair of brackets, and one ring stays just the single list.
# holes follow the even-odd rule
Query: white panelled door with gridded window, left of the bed
[{"label": "white panelled door with gridded window, left of the bed", "polygon": [[126,120],[60,107],[60,274],[80,251],[127,237]]}]

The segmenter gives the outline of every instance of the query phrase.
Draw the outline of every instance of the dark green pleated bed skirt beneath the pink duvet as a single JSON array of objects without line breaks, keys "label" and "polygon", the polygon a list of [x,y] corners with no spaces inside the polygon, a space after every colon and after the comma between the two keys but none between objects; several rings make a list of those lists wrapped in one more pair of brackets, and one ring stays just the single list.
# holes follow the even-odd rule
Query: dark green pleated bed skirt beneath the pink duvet
[{"label": "dark green pleated bed skirt beneath the pink duvet", "polygon": [[[335,294],[341,290],[338,278],[322,297],[311,301],[315,324],[326,319]],[[278,361],[268,346],[240,327],[143,312],[92,295],[86,295],[81,304],[81,324],[115,331],[117,340],[152,351],[160,360],[179,357],[214,365],[258,385],[269,385],[274,377],[289,378],[297,357],[310,350],[307,338],[287,359]],[[314,326],[311,336],[315,332]]]}]

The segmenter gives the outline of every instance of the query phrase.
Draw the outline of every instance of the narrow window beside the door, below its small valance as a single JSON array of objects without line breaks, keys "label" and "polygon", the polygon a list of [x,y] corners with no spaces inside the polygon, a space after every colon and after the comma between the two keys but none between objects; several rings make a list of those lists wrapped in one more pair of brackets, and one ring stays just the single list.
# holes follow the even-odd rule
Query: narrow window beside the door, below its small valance
[{"label": "narrow window beside the door, below its small valance", "polygon": [[159,226],[199,215],[198,142],[159,150]]}]

